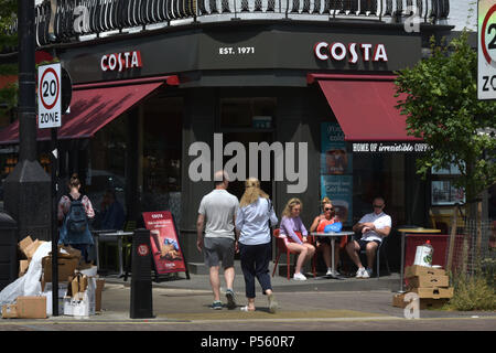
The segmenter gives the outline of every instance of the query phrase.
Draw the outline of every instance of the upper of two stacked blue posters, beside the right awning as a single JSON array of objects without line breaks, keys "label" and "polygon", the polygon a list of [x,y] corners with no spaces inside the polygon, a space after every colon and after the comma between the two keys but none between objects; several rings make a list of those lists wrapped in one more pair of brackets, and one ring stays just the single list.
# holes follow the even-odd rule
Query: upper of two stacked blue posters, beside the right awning
[{"label": "upper of two stacked blue posters, beside the right awning", "polygon": [[346,152],[344,132],[337,122],[321,125],[321,174],[353,173],[352,153]]}]

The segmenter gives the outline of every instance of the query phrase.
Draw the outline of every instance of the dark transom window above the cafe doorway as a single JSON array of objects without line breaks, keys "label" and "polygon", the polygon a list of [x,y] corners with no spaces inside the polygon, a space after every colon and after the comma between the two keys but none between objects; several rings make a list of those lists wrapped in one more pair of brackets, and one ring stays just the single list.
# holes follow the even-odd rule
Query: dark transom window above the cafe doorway
[{"label": "dark transom window above the cafe doorway", "polygon": [[273,128],[276,98],[222,98],[220,126],[223,128]]}]

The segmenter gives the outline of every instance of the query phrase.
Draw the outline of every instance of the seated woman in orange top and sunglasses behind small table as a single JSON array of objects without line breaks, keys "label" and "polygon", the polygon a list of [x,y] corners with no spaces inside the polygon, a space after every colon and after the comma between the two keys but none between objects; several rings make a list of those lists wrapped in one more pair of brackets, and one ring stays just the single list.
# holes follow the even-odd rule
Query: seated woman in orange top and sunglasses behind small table
[{"label": "seated woman in orange top and sunglasses behind small table", "polygon": [[[323,214],[319,215],[313,220],[312,226],[310,227],[310,232],[321,232],[321,228],[327,224],[333,224],[335,222],[339,222],[334,212],[333,204],[328,197],[324,197],[322,200],[322,208]],[[332,246],[330,237],[317,237],[316,238],[316,248],[317,252],[322,252],[322,256],[324,257],[324,263],[327,266],[326,276],[339,276],[339,272],[336,270],[337,264],[339,264],[339,239],[336,238],[336,246],[334,247],[334,272],[331,266],[331,256],[332,256]]]}]

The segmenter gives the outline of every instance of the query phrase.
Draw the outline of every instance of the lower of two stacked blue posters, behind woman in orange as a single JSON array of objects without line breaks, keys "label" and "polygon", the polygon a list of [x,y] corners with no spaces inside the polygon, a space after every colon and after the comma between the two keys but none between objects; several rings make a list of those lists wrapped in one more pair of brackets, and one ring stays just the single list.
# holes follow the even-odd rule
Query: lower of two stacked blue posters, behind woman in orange
[{"label": "lower of two stacked blue posters, behind woman in orange", "polygon": [[339,221],[353,221],[353,175],[321,175],[321,195],[332,200]]}]

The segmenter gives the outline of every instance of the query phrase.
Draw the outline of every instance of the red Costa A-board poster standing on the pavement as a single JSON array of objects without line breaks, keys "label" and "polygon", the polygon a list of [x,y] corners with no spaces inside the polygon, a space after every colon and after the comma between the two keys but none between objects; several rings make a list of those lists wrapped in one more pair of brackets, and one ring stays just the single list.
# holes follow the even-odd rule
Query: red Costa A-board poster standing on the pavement
[{"label": "red Costa A-board poster standing on the pavement", "polygon": [[176,228],[169,211],[143,212],[147,229],[150,229],[155,270],[159,275],[186,271]]}]

